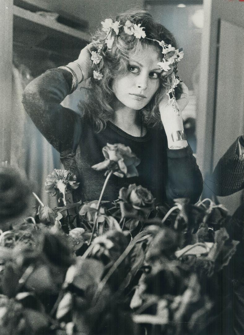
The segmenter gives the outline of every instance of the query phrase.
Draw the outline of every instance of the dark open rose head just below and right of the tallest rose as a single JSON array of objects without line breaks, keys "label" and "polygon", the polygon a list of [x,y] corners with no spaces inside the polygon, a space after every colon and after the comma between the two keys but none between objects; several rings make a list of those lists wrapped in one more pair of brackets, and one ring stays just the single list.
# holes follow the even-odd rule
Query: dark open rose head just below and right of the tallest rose
[{"label": "dark open rose head just below and right of the tallest rose", "polygon": [[141,185],[129,185],[119,191],[122,217],[142,215],[146,217],[155,208],[155,198],[150,191]]}]

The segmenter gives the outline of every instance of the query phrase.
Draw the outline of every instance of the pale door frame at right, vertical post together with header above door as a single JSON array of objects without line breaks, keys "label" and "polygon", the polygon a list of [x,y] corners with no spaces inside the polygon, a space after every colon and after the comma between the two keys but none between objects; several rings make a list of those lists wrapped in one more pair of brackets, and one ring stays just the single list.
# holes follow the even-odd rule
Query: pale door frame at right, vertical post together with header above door
[{"label": "pale door frame at right, vertical post together with header above door", "polygon": [[[244,27],[244,2],[204,0],[204,29],[201,50],[200,95],[197,116],[197,160],[202,173],[211,172],[217,98],[217,48],[221,19]],[[228,126],[228,125],[227,125]],[[230,143],[231,145],[232,143]]]}]

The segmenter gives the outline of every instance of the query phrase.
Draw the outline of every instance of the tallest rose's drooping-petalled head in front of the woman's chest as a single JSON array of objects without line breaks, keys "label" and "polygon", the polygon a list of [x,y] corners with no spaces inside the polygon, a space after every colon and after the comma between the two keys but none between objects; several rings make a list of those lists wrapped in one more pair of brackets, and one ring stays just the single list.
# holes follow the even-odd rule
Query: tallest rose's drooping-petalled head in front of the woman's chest
[{"label": "tallest rose's drooping-petalled head in front of the woman's chest", "polygon": [[113,171],[117,177],[123,178],[124,176],[135,177],[138,176],[136,166],[140,164],[140,159],[131,151],[130,147],[124,144],[109,144],[102,149],[105,160],[101,163],[95,164],[92,168],[96,171],[107,169]]}]

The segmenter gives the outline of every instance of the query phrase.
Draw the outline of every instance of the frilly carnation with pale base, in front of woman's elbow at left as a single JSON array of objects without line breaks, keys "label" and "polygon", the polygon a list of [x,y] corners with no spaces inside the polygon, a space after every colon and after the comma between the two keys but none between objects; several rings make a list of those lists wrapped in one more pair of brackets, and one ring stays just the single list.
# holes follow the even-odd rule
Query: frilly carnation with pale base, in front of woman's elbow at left
[{"label": "frilly carnation with pale base, in front of woman's elbow at left", "polygon": [[63,194],[63,201],[65,201],[65,192],[67,190],[75,190],[79,187],[76,176],[69,170],[54,169],[53,172],[47,176],[45,183],[45,190],[51,196],[56,195],[58,192]]}]

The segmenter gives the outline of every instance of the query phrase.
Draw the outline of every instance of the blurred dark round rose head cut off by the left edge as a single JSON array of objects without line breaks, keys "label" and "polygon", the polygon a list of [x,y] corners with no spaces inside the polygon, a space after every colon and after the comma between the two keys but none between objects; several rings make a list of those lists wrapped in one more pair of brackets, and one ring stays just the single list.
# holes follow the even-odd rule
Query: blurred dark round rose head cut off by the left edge
[{"label": "blurred dark round rose head cut off by the left edge", "polygon": [[31,192],[23,171],[11,166],[0,167],[0,217],[16,216],[26,209]]}]

